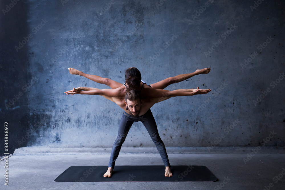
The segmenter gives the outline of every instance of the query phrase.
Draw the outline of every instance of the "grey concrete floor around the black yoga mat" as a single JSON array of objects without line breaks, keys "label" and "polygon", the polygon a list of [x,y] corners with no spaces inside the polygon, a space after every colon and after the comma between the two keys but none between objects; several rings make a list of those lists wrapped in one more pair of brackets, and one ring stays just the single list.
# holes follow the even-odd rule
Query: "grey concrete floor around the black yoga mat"
[{"label": "grey concrete floor around the black yoga mat", "polygon": [[[5,161],[0,162],[0,189],[284,189],[284,147],[167,148],[171,165],[206,166],[215,182],[54,182],[70,166],[106,166],[111,148],[24,147],[9,157],[9,186],[4,185]],[[155,148],[122,148],[116,165],[163,165]],[[249,157],[247,154],[253,156]],[[283,172],[283,174],[282,174]],[[161,171],[164,174],[164,171]],[[151,174],[150,174],[151,175]],[[278,177],[279,175],[279,177]],[[277,178],[275,177],[277,176]],[[228,181],[225,181],[227,178]],[[225,182],[225,183],[224,183]],[[270,184],[271,183],[271,184]],[[271,185],[272,187],[270,187]]]}]

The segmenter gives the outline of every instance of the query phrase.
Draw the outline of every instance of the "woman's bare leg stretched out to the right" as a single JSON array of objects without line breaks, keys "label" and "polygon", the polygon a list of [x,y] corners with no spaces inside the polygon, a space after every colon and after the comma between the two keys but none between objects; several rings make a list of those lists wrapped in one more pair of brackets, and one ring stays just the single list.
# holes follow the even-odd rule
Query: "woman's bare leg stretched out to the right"
[{"label": "woman's bare leg stretched out to the right", "polygon": [[195,75],[207,74],[210,72],[210,70],[211,70],[210,68],[198,69],[194,73],[181,74],[181,75],[177,75],[175,77],[169,77],[169,78],[164,79],[162,81],[159,81],[157,83],[151,84],[150,86],[152,88],[155,88],[155,89],[164,89],[168,85],[184,81],[184,80],[189,79],[190,77],[193,77]]}]

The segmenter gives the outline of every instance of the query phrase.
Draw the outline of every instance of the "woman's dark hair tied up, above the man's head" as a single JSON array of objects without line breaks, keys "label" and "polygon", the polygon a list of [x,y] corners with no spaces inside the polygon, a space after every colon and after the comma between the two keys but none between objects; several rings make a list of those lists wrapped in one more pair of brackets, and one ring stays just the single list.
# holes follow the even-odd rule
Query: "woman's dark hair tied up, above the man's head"
[{"label": "woman's dark hair tied up, above the man's head", "polygon": [[141,72],[135,67],[128,68],[125,72],[125,79],[128,86],[126,92],[129,92],[140,86],[142,79]]}]

